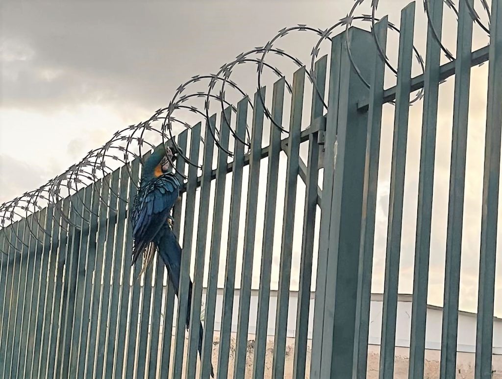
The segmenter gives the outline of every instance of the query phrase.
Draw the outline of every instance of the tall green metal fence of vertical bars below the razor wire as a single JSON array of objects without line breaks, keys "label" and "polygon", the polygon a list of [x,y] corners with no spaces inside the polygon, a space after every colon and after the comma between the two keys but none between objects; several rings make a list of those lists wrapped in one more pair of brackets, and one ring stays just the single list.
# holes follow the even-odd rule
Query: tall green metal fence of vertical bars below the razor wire
[{"label": "tall green metal fence of vertical bars below the razor wire", "polygon": [[[177,302],[162,262],[140,278],[141,268],[130,268],[132,230],[128,216],[137,192],[141,150],[134,159],[126,159],[126,154],[127,164],[112,172],[94,164],[92,179],[98,176],[99,168],[104,174],[88,185],[73,185],[82,183],[81,178],[72,179],[66,173],[64,179],[58,178],[44,190],[48,194],[45,207],[33,207],[44,198],[41,191],[32,193],[30,201],[25,197],[4,205],[4,222],[12,223],[5,223],[0,232],[4,252],[0,266],[0,376],[143,378],[169,374],[173,378],[206,378],[212,359],[219,378],[242,378],[249,364],[254,378],[265,377],[269,295],[276,252],[280,263],[272,377],[285,376],[285,320],[293,259],[300,261],[294,278],[298,280],[299,294],[293,372],[288,376],[366,377],[382,112],[384,104],[393,102],[380,352],[380,377],[393,377],[410,94],[420,90],[423,119],[409,377],[424,377],[438,92],[442,81],[454,76],[440,377],[455,377],[470,70],[489,61],[475,377],[491,377],[502,123],[502,4],[499,0],[491,3],[490,44],[471,52],[473,23],[479,19],[472,17],[473,1],[460,0],[456,58],[451,57],[443,65],[440,54],[446,49],[440,41],[444,4],[434,0],[425,5],[427,55],[422,75],[411,75],[415,20],[415,3],[411,3],[401,13],[397,84],[392,88],[384,90],[388,65],[384,58],[387,32],[395,27],[387,18],[378,21],[374,16],[365,16],[376,22],[372,32],[350,27],[351,20],[345,21],[342,25],[346,31],[330,38],[331,53],[316,59],[314,70],[300,67],[291,85],[285,77],[274,84],[270,111],[262,87],[253,101],[244,97],[236,108],[226,104],[205,123],[177,135],[186,159],[178,159],[176,168],[186,180],[183,200],[174,209],[174,228],[182,236],[183,246],[180,291],[186,293],[189,275],[194,280],[191,304]],[[273,50],[271,46],[258,48],[262,49],[258,52],[265,54]],[[265,63],[258,61],[258,65],[263,69]],[[306,75],[314,83],[309,120],[304,114]],[[286,114],[290,120],[283,127],[288,89],[291,104]],[[251,112],[252,132],[247,135]],[[149,130],[148,124],[141,127]],[[129,146],[131,140],[142,137],[135,138],[120,140]],[[268,139],[265,144],[264,139]],[[301,158],[301,149],[306,151],[306,162]],[[93,156],[107,154],[107,150],[99,151],[101,155]],[[264,159],[266,167],[262,165]],[[260,177],[264,170],[265,179]],[[281,174],[284,180],[278,179]],[[298,201],[297,188],[302,182],[304,198]],[[67,188],[68,196],[62,195],[61,188]],[[20,216],[18,220],[16,215]],[[276,227],[279,218],[282,229]],[[261,246],[257,232],[263,233]],[[301,248],[294,250],[297,233],[301,235]],[[281,238],[279,253],[273,243],[277,236]],[[294,251],[300,256],[295,256]],[[250,337],[249,312],[255,311],[249,307],[255,262],[260,267],[257,332]],[[218,274],[223,270],[221,330],[216,344],[216,291]],[[314,280],[311,363],[307,366],[307,325]],[[240,288],[238,315],[233,315],[236,286]],[[184,320],[188,307],[192,324],[201,318],[202,301],[204,336],[199,361],[198,330],[190,328],[186,333]],[[231,320],[235,316],[238,326],[234,340]],[[252,357],[249,339],[254,339]],[[213,359],[215,350],[217,359]]]}]

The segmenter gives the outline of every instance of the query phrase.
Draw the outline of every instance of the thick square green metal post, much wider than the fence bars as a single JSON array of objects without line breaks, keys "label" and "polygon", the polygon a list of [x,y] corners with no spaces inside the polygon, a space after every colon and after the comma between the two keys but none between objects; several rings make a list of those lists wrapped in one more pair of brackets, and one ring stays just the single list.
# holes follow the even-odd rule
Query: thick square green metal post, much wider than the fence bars
[{"label": "thick square green metal post, much wider than the fence bars", "polygon": [[359,75],[369,81],[374,54],[371,34],[357,28],[332,41],[311,378],[352,376],[367,130],[357,102],[368,96]]}]

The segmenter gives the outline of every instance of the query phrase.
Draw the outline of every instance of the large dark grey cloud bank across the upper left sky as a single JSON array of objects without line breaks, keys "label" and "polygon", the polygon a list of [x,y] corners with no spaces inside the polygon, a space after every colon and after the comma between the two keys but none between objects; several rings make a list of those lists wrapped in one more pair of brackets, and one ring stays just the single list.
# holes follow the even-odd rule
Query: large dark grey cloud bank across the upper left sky
[{"label": "large dark grey cloud bank across the upper left sky", "polygon": [[3,104],[166,105],[189,77],[216,70],[284,26],[279,19],[257,28],[253,18],[267,17],[259,7],[221,5],[9,4],[3,8],[3,45],[10,51],[3,60]]}]

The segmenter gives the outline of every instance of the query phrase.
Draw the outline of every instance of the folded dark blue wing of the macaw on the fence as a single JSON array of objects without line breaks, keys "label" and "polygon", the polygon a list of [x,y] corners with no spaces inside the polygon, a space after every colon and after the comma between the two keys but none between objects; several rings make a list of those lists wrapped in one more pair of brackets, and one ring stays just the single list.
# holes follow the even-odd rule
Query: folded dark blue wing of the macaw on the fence
[{"label": "folded dark blue wing of the macaw on the fence", "polygon": [[167,222],[179,196],[179,182],[173,175],[162,175],[140,188],[133,204],[133,260],[154,240]]}]

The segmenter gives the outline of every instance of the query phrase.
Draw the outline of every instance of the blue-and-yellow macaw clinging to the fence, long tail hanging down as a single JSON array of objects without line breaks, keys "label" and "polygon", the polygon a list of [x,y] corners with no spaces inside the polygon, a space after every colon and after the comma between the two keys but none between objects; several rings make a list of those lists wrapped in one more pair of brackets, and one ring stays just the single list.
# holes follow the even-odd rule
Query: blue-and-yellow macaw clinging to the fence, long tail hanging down
[{"label": "blue-and-yellow macaw clinging to the fence, long tail hanging down", "polygon": [[[143,273],[152,262],[155,251],[158,251],[178,296],[182,249],[172,230],[171,209],[179,199],[180,182],[171,172],[172,162],[176,157],[171,146],[164,147],[163,144],[157,146],[143,165],[140,188],[132,207],[134,246],[131,265],[135,265],[138,257],[143,253]],[[187,330],[190,325],[192,286],[193,283],[190,280],[187,299]],[[202,322],[200,322],[199,356],[202,354],[203,332]],[[211,377],[214,377],[212,364]]]}]

